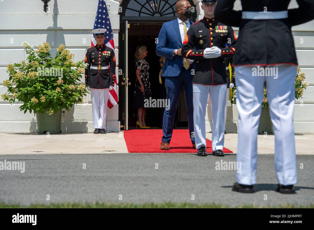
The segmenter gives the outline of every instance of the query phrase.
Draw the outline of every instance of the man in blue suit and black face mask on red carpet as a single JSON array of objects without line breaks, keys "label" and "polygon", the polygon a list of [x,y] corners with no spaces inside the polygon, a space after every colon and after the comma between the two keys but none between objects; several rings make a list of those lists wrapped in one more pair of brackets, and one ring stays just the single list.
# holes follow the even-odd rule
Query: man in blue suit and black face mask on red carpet
[{"label": "man in blue suit and black face mask on red carpet", "polygon": [[183,39],[188,28],[193,23],[188,19],[192,16],[191,4],[186,0],[177,1],[176,12],[178,14],[177,19],[165,22],[162,25],[156,46],[156,54],[165,57],[165,64],[161,76],[165,77],[166,99],[170,99],[170,108],[169,110],[165,110],[163,117],[161,150],[170,150],[169,143],[172,137],[173,123],[182,86],[185,96],[185,105],[187,107],[188,129],[190,131],[192,147],[196,149],[193,125],[193,60],[183,58],[181,55]]}]

